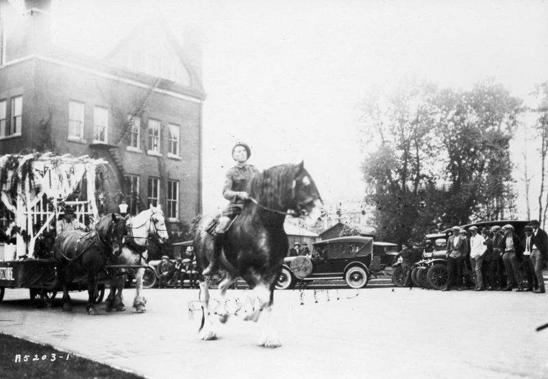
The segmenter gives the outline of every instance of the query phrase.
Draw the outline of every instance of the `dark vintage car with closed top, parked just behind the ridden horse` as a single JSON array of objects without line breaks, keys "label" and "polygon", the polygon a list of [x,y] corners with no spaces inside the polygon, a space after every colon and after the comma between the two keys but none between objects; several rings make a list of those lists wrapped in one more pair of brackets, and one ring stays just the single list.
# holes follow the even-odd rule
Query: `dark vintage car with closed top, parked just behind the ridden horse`
[{"label": "dark vintage car with closed top, parked just behind the ridden horse", "polygon": [[381,269],[381,257],[373,254],[371,237],[339,237],[313,243],[312,247],[311,258],[284,258],[277,289],[291,289],[301,280],[345,280],[349,287],[360,289]]}]

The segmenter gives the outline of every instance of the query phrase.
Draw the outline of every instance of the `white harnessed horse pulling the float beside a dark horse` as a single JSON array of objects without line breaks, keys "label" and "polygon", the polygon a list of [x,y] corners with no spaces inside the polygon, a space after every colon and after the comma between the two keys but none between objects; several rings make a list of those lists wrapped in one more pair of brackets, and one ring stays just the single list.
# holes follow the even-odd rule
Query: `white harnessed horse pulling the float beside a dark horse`
[{"label": "white harnessed horse pulling the float beside a dark horse", "polygon": [[[123,266],[143,266],[147,264],[149,236],[153,234],[160,243],[166,243],[169,239],[167,233],[166,221],[164,212],[160,206],[155,208],[150,206],[149,209],[143,210],[136,217],[127,220],[127,235],[122,248],[122,254],[118,257],[116,265]],[[124,273],[127,273],[127,268],[119,268],[119,273],[116,270],[111,272],[110,293],[105,302],[106,310],[110,312],[112,308],[116,310],[125,310],[122,291],[124,289]],[[133,307],[137,312],[145,312],[147,299],[142,296],[142,276],[145,273],[145,267],[135,269],[135,298]],[[118,276],[118,278],[115,278]],[[116,289],[118,291],[116,291]]]}]

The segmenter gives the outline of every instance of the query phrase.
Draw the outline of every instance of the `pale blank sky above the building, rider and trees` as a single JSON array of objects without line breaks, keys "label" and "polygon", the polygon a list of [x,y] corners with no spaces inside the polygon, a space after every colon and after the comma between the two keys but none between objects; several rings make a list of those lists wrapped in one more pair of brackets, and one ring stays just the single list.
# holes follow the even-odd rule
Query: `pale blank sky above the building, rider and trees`
[{"label": "pale blank sky above the building, rider and trees", "polygon": [[[223,177],[240,140],[251,146],[249,162],[259,169],[303,160],[325,200],[363,197],[356,104],[372,86],[416,77],[466,89],[494,77],[534,102],[535,84],[548,80],[547,1],[54,0],[54,6],[58,26],[71,30],[60,42],[95,56],[153,14],[175,32],[184,23],[201,29],[205,213],[226,204]],[[523,150],[534,155],[532,143],[524,149],[517,138],[512,148],[516,163]]]}]

